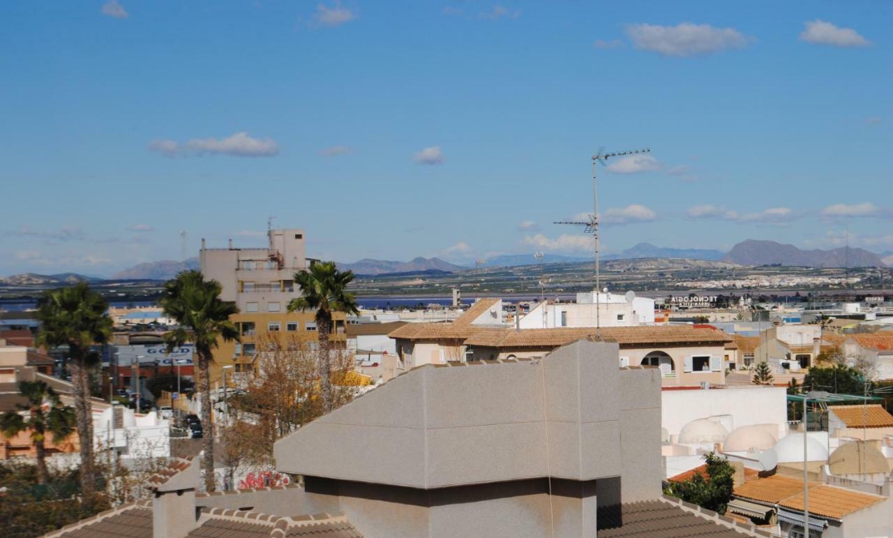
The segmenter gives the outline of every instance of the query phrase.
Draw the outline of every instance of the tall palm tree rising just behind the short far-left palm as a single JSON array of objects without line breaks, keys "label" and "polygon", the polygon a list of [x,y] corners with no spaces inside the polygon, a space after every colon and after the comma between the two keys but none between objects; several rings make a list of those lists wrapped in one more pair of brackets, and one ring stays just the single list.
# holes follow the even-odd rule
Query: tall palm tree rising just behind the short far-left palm
[{"label": "tall palm tree rising just behind the short far-left palm", "polygon": [[85,495],[96,492],[88,369],[99,362],[99,354],[90,346],[104,344],[112,337],[112,319],[106,310],[108,302],[103,296],[90,290],[86,282],[79,282],[69,288],[46,290],[38,299],[36,315],[40,322],[38,345],[68,347],[80,444],[80,487]]}]

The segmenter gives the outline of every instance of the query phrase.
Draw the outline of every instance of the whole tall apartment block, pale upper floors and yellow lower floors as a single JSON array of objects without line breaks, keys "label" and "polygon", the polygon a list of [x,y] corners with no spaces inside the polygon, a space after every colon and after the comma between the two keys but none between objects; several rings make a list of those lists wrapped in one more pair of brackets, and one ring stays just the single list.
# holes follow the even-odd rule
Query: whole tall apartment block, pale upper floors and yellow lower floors
[{"label": "whole tall apartment block, pale upper floors and yellow lower floors", "polygon": [[[313,312],[288,312],[288,303],[300,297],[295,273],[310,266],[305,256],[304,230],[270,230],[265,248],[207,248],[204,239],[199,256],[204,278],[221,283],[221,299],[233,301],[239,313],[230,319],[237,324],[241,342],[221,341],[214,350],[211,366],[212,387],[222,382],[224,366],[230,374],[253,371],[257,342],[271,332],[296,337],[313,347],[317,340]],[[332,340],[345,340],[343,314],[335,316]]]}]

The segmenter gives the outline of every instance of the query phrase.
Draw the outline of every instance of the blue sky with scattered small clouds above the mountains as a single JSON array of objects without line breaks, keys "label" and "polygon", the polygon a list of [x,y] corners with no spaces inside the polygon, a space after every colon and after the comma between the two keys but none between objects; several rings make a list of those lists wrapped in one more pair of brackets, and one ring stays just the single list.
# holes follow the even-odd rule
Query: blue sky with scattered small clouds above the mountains
[{"label": "blue sky with scattered small clouds above the mountains", "polygon": [[[671,5],[672,4],[672,5]],[[458,262],[893,250],[893,3],[9,1],[0,274],[199,240]]]}]

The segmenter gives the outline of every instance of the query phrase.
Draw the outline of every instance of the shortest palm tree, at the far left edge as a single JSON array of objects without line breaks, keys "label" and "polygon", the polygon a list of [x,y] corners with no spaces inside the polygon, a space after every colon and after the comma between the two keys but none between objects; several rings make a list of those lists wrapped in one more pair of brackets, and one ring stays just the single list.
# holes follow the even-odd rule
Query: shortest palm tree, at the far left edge
[{"label": "shortest palm tree, at the far left edge", "polygon": [[[46,382],[19,382],[19,391],[28,400],[28,404],[16,404],[15,407],[20,411],[28,411],[28,416],[21,416],[17,411],[6,411],[0,416],[0,430],[7,437],[24,431],[31,432],[31,441],[34,441],[34,448],[38,452],[38,483],[46,483],[46,434],[52,433],[56,444],[68,437],[77,420],[74,408],[63,406],[59,394]],[[48,404],[46,410],[44,402]]]}]

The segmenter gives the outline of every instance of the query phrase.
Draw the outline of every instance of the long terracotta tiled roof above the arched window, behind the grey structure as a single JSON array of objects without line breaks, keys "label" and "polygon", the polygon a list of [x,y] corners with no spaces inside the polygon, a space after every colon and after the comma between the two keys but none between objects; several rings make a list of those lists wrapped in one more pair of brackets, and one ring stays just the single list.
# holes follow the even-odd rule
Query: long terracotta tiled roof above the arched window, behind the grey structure
[{"label": "long terracotta tiled roof above the arched window, behind the grey structure", "polygon": [[[590,338],[595,334],[595,327],[523,329],[521,331],[505,329],[476,333],[465,340],[465,345],[486,348],[548,348]],[[603,327],[601,336],[604,340],[617,341],[621,347],[694,343],[724,346],[727,341],[730,341],[729,335],[725,332],[713,329],[693,329],[683,325]]]}]

